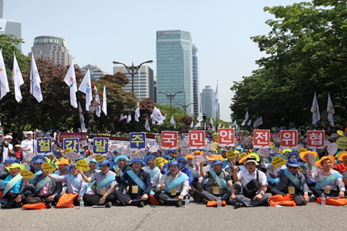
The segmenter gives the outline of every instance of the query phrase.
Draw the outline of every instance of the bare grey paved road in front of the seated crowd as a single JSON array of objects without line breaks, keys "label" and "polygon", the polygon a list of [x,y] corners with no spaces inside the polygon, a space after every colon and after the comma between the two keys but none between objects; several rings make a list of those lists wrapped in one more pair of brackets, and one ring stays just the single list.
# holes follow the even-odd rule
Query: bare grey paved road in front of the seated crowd
[{"label": "bare grey paved road in front of the seated crowd", "polygon": [[347,207],[1,209],[0,230],[345,230]]}]

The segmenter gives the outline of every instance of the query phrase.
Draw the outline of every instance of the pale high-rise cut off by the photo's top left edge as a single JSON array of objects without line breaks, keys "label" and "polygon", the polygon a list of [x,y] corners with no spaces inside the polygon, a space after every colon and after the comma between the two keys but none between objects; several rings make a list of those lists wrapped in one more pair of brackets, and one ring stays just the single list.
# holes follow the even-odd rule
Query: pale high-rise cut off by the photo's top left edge
[{"label": "pale high-rise cut off by the photo's top left edge", "polygon": [[[5,35],[15,35],[19,39],[22,38],[22,24],[3,19],[3,0],[0,0],[0,31]],[[18,44],[17,48],[22,50],[22,43]]]}]

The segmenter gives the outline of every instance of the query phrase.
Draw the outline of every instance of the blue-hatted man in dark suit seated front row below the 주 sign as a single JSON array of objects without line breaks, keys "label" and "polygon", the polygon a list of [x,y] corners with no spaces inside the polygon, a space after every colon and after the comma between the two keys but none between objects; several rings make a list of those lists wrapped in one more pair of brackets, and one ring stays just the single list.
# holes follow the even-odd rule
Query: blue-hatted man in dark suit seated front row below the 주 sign
[{"label": "blue-hatted man in dark suit seated front row below the \uc8fc sign", "polygon": [[152,184],[151,176],[149,173],[142,169],[142,164],[146,165],[144,160],[136,158],[129,162],[131,167],[130,171],[126,171],[123,176],[120,176],[121,169],[116,169],[116,180],[118,183],[128,180],[129,190],[126,194],[116,193],[116,199],[123,206],[136,205],[144,207],[149,202]]}]

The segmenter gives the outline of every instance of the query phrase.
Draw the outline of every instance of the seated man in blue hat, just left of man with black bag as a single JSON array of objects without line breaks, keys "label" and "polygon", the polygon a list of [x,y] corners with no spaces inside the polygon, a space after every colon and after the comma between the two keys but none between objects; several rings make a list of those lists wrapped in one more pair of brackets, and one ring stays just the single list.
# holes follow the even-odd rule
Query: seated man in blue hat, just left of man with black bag
[{"label": "seated man in blue hat, just left of man with black bag", "polygon": [[210,164],[212,169],[208,172],[203,171],[204,163],[203,161],[200,163],[200,175],[208,178],[208,183],[206,190],[201,192],[201,198],[217,201],[220,197],[221,200],[226,200],[226,203],[231,205],[231,201],[235,200],[235,191],[230,174],[223,170],[226,162],[214,160]]}]

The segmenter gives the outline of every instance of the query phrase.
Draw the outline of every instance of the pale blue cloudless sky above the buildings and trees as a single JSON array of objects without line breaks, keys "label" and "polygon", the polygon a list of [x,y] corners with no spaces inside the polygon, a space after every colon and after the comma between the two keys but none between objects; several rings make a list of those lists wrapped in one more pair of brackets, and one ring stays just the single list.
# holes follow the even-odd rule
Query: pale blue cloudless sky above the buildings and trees
[{"label": "pale blue cloudless sky above the buildings and trees", "polygon": [[[67,40],[74,63],[98,65],[112,74],[112,61],[139,65],[146,60],[156,74],[155,32],[183,30],[198,48],[199,89],[219,81],[221,119],[231,121],[233,81],[250,76],[264,56],[250,39],[266,35],[272,15],[264,6],[287,6],[293,0],[4,0],[3,18],[22,23],[22,51],[33,40],[53,35]],[[246,113],[246,112],[245,112]],[[260,117],[261,114],[256,115]]]}]

